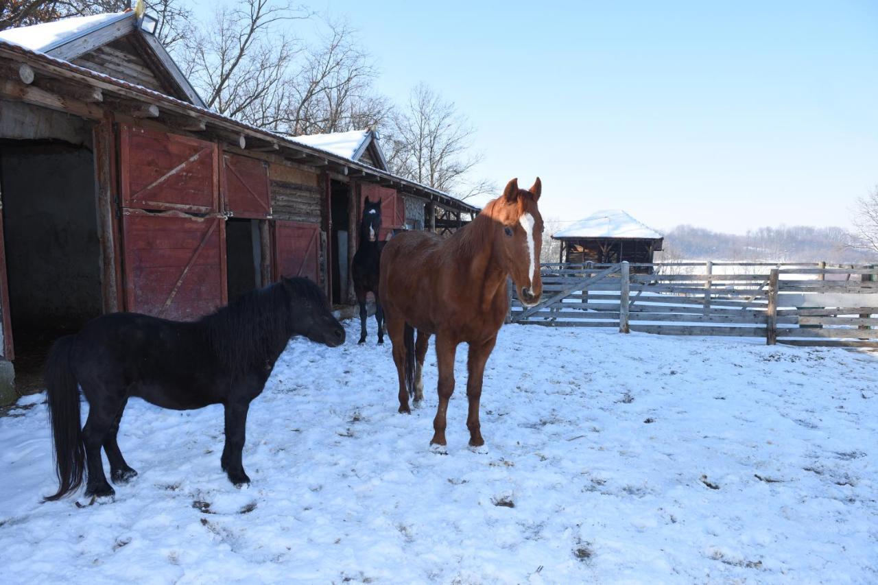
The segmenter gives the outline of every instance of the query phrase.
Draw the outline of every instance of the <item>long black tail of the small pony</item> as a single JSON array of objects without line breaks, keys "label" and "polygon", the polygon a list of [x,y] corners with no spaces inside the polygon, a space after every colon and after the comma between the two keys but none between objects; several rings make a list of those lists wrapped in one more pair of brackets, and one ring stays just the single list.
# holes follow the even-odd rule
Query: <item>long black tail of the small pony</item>
[{"label": "long black tail of the small pony", "polygon": [[83,483],[85,448],[80,426],[79,386],[70,369],[70,349],[75,338],[63,336],[56,341],[46,362],[46,387],[59,483],[58,493],[48,496],[47,500],[58,500]]}]

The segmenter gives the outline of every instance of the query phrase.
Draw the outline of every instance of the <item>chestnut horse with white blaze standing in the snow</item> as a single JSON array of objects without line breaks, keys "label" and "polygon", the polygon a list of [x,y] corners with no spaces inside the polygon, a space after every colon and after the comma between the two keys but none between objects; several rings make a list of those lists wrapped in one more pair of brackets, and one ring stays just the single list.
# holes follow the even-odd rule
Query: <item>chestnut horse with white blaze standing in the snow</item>
[{"label": "chestnut horse with white blaze standing in the snow", "polygon": [[[446,444],[445,415],[454,392],[454,357],[457,345],[464,342],[470,346],[466,426],[472,446],[485,444],[479,399],[485,364],[509,306],[507,277],[512,277],[526,307],[536,305],[543,293],[543,217],[536,206],[541,189],[539,177],[527,191],[518,188],[518,179],[512,179],[500,198],[450,238],[405,232],[388,242],[382,253],[379,288],[399,374],[400,413],[411,412],[409,394],[415,403],[423,399],[424,356],[429,336],[436,336],[439,406],[431,444]],[[418,330],[416,344],[414,329]]]}]

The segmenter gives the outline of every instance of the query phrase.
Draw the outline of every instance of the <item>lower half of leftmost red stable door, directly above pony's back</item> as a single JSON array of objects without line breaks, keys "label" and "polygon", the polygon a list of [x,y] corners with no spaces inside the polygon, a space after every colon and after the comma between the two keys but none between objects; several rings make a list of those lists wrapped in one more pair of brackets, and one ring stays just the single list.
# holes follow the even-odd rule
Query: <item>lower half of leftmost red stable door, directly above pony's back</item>
[{"label": "lower half of leftmost red stable door, directly above pony's back", "polygon": [[126,209],[126,308],[191,321],[227,302],[226,222]]}]

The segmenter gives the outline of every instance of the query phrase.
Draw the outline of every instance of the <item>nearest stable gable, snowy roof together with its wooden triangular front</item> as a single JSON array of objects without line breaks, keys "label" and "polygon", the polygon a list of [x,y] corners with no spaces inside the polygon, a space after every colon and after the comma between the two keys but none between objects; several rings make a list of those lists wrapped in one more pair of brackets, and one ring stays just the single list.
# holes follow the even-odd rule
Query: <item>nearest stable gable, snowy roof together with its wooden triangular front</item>
[{"label": "nearest stable gable, snowy roof together with its wooden triangular front", "polygon": [[122,81],[205,107],[204,100],[137,11],[61,18],[0,31],[0,42],[18,45]]}]

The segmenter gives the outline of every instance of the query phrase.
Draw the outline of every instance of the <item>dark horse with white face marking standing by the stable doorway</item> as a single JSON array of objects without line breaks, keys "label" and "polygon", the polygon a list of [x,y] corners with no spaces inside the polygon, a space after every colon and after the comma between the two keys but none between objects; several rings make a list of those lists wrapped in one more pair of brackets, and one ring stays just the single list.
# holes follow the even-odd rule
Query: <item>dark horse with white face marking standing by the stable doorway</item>
[{"label": "dark horse with white face marking standing by the stable doorway", "polygon": [[370,201],[366,197],[363,220],[360,221],[360,242],[356,247],[350,271],[354,278],[356,302],[360,304],[360,341],[366,343],[366,293],[375,295],[375,322],[378,324],[378,344],[384,343],[384,308],[378,296],[378,271],[381,266],[381,249],[385,242],[378,242],[381,229],[381,200]]}]

